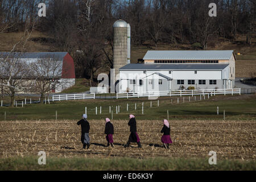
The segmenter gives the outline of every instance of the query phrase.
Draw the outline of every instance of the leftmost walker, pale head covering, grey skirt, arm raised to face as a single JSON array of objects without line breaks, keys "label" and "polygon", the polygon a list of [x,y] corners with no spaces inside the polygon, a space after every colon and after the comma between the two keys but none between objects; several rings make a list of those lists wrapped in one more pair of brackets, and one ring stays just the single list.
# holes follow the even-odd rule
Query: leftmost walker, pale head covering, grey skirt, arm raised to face
[{"label": "leftmost walker, pale head covering, grey skirt, arm raised to face", "polygon": [[90,124],[87,121],[87,114],[82,114],[82,119],[77,122],[77,125],[81,125],[81,142],[83,144],[83,147],[87,146],[87,149],[90,147],[90,137],[89,137],[89,130],[90,130]]}]

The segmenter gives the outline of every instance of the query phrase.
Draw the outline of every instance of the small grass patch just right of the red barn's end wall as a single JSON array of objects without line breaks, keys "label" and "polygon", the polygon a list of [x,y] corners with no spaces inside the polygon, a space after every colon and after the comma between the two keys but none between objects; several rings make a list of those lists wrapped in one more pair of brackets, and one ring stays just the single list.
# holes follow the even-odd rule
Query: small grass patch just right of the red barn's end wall
[{"label": "small grass patch just right of the red barn's end wall", "polygon": [[89,82],[85,78],[76,78],[76,84],[61,93],[81,93],[90,90]]}]

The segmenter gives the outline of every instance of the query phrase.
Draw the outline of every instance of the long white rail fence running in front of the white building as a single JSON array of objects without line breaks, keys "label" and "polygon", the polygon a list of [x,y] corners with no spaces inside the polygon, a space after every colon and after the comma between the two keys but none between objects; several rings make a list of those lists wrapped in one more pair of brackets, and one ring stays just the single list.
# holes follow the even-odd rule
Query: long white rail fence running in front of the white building
[{"label": "long white rail fence running in front of the white building", "polygon": [[240,89],[206,89],[206,90],[171,90],[171,91],[158,91],[158,92],[129,92],[117,93],[118,98],[133,98],[133,97],[160,97],[160,96],[196,96],[196,95],[210,95],[216,94],[241,94]]}]

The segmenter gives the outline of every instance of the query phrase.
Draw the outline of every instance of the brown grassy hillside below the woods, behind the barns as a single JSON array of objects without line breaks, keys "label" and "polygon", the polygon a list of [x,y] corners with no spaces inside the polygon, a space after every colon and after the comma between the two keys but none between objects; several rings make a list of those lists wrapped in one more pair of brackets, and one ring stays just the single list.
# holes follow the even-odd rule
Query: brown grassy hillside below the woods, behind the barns
[{"label": "brown grassy hillside below the woods, behind the barns", "polygon": [[[0,34],[0,51],[10,51],[13,45],[19,41],[23,32],[10,32]],[[246,36],[241,35],[234,42],[224,41],[223,38],[214,38],[209,40],[208,49],[212,50],[234,50],[236,55],[236,77],[251,77],[256,72],[256,34],[252,36],[251,46],[246,45]],[[17,51],[20,50],[17,46]],[[154,50],[155,47],[149,43],[145,46],[132,46],[131,47],[131,63],[137,63],[138,59],[142,59],[148,50]],[[158,50],[188,50],[192,49],[188,44],[159,44]],[[50,36],[34,31],[31,38],[27,42],[25,48],[27,52],[53,52],[60,51],[55,46],[55,41]]]}]

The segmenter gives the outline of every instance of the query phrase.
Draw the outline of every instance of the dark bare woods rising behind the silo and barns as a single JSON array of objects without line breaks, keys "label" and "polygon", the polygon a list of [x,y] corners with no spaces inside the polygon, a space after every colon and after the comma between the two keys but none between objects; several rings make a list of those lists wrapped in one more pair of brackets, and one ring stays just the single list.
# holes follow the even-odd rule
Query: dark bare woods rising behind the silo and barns
[{"label": "dark bare woods rising behind the silo and barns", "polygon": [[[46,18],[38,18],[38,4],[47,5]],[[217,17],[209,17],[216,3]],[[20,31],[27,23],[47,32],[60,51],[76,61],[77,77],[90,77],[103,65],[113,67],[115,20],[131,26],[131,43],[158,49],[159,43],[191,44],[207,49],[209,39],[236,40],[255,32],[255,0],[0,0],[0,23],[5,31]],[[0,29],[1,32],[1,29]]]}]

